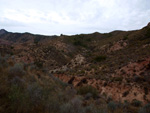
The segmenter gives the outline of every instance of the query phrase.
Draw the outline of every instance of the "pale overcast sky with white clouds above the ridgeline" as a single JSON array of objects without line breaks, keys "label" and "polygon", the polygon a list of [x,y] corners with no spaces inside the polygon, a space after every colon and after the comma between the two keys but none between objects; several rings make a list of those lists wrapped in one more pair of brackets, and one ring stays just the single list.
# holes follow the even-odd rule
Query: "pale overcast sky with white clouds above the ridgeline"
[{"label": "pale overcast sky with white clouds above the ridgeline", "polygon": [[150,0],[0,0],[0,29],[44,35],[135,30],[150,22]]}]

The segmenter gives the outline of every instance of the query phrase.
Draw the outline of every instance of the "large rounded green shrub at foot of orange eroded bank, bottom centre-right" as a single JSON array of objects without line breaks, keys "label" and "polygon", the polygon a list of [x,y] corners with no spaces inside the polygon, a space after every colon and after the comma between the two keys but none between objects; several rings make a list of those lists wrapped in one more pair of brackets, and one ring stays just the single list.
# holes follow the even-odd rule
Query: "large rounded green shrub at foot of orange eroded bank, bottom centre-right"
[{"label": "large rounded green shrub at foot of orange eroded bank, bottom centre-right", "polygon": [[78,88],[77,93],[80,95],[86,95],[88,93],[91,93],[94,98],[98,97],[97,89],[89,85]]}]

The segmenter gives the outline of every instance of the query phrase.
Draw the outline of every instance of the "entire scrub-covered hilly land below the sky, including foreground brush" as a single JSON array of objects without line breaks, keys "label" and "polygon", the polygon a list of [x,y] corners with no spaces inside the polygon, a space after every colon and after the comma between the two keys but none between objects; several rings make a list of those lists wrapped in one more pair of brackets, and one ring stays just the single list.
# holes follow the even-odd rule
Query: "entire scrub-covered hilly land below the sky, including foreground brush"
[{"label": "entire scrub-covered hilly land below the sky, including foreground brush", "polygon": [[0,112],[138,113],[150,107],[150,24],[73,36],[0,30],[0,54]]}]

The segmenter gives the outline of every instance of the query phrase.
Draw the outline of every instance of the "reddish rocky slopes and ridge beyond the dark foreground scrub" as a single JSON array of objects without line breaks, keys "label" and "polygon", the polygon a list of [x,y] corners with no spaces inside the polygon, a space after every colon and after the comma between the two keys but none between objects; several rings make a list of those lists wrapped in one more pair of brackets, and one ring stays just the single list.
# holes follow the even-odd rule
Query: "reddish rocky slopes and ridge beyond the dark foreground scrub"
[{"label": "reddish rocky slopes and ridge beyond the dark foreground scrub", "polygon": [[0,32],[1,54],[36,64],[75,88],[91,85],[115,101],[150,102],[150,27],[41,36]]}]

